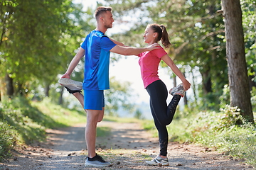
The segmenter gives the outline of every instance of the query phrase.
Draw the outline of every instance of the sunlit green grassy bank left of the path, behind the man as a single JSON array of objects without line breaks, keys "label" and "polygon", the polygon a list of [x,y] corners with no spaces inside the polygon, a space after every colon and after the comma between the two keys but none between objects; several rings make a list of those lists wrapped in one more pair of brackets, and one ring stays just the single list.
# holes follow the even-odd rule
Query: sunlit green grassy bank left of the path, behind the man
[{"label": "sunlit green grassy bank left of the path, behind the man", "polygon": [[45,140],[46,128],[85,122],[84,112],[61,108],[48,98],[38,103],[22,97],[3,100],[0,103],[0,159],[7,157],[18,144]]}]

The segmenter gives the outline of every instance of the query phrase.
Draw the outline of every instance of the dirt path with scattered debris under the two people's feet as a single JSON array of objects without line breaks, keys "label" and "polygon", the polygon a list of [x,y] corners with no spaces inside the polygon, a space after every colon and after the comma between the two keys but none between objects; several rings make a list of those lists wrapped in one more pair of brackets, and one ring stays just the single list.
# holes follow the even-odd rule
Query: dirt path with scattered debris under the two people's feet
[{"label": "dirt path with scattered debris under the two people's feet", "polygon": [[[159,144],[137,123],[102,122],[112,128],[110,137],[97,137],[97,153],[105,155],[112,166],[104,169],[254,169],[242,160],[223,156],[196,145],[169,144],[170,166],[147,166],[144,161],[156,157]],[[85,125],[48,130],[48,142],[24,147],[14,159],[0,164],[0,169],[100,169],[85,167]]]}]

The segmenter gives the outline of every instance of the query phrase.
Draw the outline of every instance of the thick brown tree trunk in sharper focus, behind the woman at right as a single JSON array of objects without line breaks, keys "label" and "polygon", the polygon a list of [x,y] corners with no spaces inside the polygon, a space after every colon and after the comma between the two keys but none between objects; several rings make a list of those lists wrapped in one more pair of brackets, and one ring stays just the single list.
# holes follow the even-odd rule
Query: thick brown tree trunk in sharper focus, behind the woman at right
[{"label": "thick brown tree trunk in sharper focus, behind the woman at right", "polygon": [[222,0],[222,6],[225,18],[230,105],[238,106],[241,109],[240,114],[253,123],[240,0]]}]

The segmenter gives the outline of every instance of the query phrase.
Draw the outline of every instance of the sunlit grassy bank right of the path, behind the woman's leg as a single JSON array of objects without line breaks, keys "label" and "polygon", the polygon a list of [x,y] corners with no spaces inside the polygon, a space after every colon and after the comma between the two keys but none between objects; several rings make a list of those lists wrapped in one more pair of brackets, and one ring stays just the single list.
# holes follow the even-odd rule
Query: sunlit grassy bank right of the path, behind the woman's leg
[{"label": "sunlit grassy bank right of the path, behind the woman's leg", "polygon": [[[237,123],[242,125],[236,125]],[[157,137],[153,121],[144,121],[143,125]],[[256,128],[238,115],[237,108],[226,106],[218,113],[177,112],[168,130],[170,141],[193,142],[213,147],[226,155],[245,159],[248,164],[256,165]]]}]

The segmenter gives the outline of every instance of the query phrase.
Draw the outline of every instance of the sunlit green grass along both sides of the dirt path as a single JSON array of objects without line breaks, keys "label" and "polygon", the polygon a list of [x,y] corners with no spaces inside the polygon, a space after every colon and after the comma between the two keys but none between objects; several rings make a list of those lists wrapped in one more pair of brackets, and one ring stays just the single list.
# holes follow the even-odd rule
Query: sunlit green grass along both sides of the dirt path
[{"label": "sunlit green grass along both sides of the dirt path", "polygon": [[[220,112],[204,111],[176,113],[168,126],[169,140],[193,142],[217,148],[233,157],[256,164],[256,128],[246,123],[236,108],[226,106]],[[75,111],[51,103],[46,98],[42,102],[31,102],[25,98],[4,100],[0,103],[0,160],[11,154],[11,149],[23,143],[46,139],[47,128],[61,128],[86,122],[84,111]],[[256,118],[256,115],[255,115]],[[105,116],[105,121],[120,123],[142,123],[154,137],[158,137],[153,120],[117,118]],[[242,125],[236,125],[236,123]],[[97,128],[97,136],[110,135],[110,128]],[[109,154],[118,153],[114,151]],[[132,153],[131,153],[132,154]]]}]

